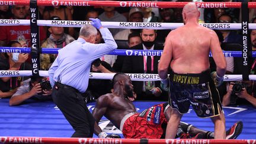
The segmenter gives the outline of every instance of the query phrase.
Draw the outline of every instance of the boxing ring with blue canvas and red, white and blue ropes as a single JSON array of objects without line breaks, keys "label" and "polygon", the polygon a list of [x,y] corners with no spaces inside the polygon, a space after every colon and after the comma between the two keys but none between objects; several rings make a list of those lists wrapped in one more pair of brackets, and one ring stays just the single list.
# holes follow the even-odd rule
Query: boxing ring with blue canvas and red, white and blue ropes
[{"label": "boxing ring with blue canvas and red, white and blue ropes", "polygon": [[[40,53],[57,53],[56,48],[40,48],[39,26],[61,26],[81,27],[84,24],[91,24],[90,21],[54,21],[38,20],[38,6],[114,6],[114,7],[156,7],[156,8],[183,8],[187,2],[148,2],[148,1],[82,1],[82,0],[20,0],[0,1],[0,5],[30,5],[30,20],[0,20],[0,25],[30,25],[31,26],[31,47],[0,47],[0,52],[30,53],[33,65],[32,71],[0,71],[0,77],[5,76],[48,76],[47,71],[40,71]],[[243,57],[244,69],[248,68],[248,59],[256,57],[252,52],[249,39],[249,29],[256,29],[256,24],[248,23],[248,8],[256,8],[256,2],[197,2],[199,8],[242,8],[242,23],[233,24],[201,24],[204,27],[217,30],[240,30],[243,34],[243,45],[241,51],[223,52],[226,57]],[[175,29],[182,23],[129,23],[129,22],[102,22],[107,28],[151,28],[151,29]],[[108,55],[123,56],[161,56],[161,50],[114,50]],[[211,54],[209,56],[212,56]],[[246,65],[247,64],[247,65]],[[127,73],[133,81],[159,81],[156,74]],[[112,79],[114,73],[90,73],[91,79]],[[249,75],[244,71],[241,75],[225,75],[224,81],[254,80],[256,75]],[[244,130],[238,140],[195,140],[195,139],[89,139],[89,138],[68,138],[72,135],[73,129],[65,117],[52,101],[34,103],[33,100],[26,101],[18,107],[9,107],[8,99],[0,100],[0,143],[255,143],[256,140],[256,110],[248,106],[224,107],[227,129],[238,120],[244,122]],[[150,105],[162,102],[135,101],[137,111],[142,111]],[[95,103],[89,103],[88,108],[92,111]],[[190,108],[188,114],[182,119],[204,130],[213,130],[210,119],[198,119]],[[113,124],[105,117],[100,121],[100,127],[107,133],[120,133]],[[94,137],[97,137],[94,135]],[[251,140],[249,140],[251,139]]]}]

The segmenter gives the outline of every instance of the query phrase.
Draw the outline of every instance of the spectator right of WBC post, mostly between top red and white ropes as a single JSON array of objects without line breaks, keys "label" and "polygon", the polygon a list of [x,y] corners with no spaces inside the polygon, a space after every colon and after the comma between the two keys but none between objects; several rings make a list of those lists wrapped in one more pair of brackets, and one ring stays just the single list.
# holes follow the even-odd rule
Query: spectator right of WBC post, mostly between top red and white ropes
[{"label": "spectator right of WBC post, mostly between top red and white ropes", "polygon": [[[46,7],[44,10],[43,19],[50,20],[50,18],[53,16],[57,16],[61,20],[68,20],[68,21],[73,20],[71,9],[65,6]],[[75,34],[74,28],[73,27],[65,28],[65,33],[73,37]]]}]

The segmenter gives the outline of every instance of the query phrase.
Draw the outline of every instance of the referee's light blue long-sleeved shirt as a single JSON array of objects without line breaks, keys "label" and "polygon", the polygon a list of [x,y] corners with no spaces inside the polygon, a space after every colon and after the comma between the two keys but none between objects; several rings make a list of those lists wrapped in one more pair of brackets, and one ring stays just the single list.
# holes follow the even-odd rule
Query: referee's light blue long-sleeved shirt
[{"label": "referee's light blue long-sleeved shirt", "polygon": [[116,41],[107,28],[100,28],[100,33],[105,43],[92,44],[79,37],[58,50],[59,55],[48,71],[52,87],[58,81],[79,92],[86,91],[91,63],[117,49]]}]

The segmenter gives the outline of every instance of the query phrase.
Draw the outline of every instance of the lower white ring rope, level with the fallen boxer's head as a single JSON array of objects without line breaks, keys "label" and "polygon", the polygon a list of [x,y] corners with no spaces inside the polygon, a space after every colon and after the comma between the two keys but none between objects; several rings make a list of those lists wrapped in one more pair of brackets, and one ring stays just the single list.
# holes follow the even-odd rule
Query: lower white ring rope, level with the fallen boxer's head
[{"label": "lower white ring rope, level with the fallen boxer's head", "polygon": [[[116,73],[90,72],[89,79],[112,79]],[[160,81],[158,74],[126,73],[132,81]],[[48,76],[48,71],[39,71],[40,76]],[[0,71],[0,78],[15,76],[32,76],[32,71]],[[256,75],[249,75],[249,79],[256,81]],[[241,81],[242,75],[225,75],[224,81]]]}]

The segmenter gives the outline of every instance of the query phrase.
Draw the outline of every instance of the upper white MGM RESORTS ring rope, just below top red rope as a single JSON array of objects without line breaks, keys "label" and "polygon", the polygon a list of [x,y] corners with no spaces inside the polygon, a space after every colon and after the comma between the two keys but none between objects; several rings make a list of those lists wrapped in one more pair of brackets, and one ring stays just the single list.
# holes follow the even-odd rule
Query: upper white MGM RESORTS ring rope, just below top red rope
[{"label": "upper white MGM RESORTS ring rope, just below top red rope", "polygon": [[[37,20],[39,26],[58,26],[58,27],[82,27],[91,24],[91,21],[57,21],[57,20]],[[175,29],[184,25],[183,23],[132,23],[132,22],[113,22],[102,21],[101,24],[107,28],[150,28],[154,30]],[[215,30],[239,30],[242,29],[241,23],[200,23],[204,27]],[[0,19],[0,25],[30,25],[30,20],[8,20]],[[256,29],[255,23],[249,23],[249,29]]]}]

